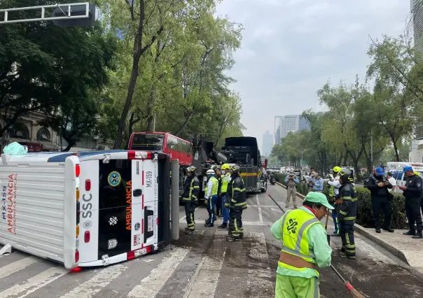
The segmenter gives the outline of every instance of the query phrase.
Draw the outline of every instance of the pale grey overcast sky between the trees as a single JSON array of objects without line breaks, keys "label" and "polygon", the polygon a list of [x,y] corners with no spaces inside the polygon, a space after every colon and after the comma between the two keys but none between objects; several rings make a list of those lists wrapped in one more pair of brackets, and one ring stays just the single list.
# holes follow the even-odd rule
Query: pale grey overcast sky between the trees
[{"label": "pale grey overcast sky between the trees", "polygon": [[317,111],[316,91],[330,78],[363,82],[369,38],[405,30],[409,0],[224,0],[219,15],[244,26],[229,72],[240,92],[245,136],[262,146],[275,115]]}]

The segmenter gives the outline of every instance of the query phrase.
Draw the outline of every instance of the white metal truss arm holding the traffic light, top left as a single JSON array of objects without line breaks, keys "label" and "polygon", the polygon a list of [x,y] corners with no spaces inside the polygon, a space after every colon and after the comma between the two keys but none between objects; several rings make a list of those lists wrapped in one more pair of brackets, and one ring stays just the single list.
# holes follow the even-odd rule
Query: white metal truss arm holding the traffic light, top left
[{"label": "white metal truss arm holding the traffic light, top left", "polygon": [[[85,14],[83,15],[71,15],[71,8],[81,8],[85,6]],[[66,11],[67,15],[46,17],[46,8],[59,8],[62,12]],[[8,20],[8,13],[11,11],[24,11],[24,10],[41,10],[41,17],[34,17],[23,20]],[[1,13],[4,13],[4,17],[1,17]],[[65,13],[64,13],[65,14]],[[53,21],[53,20],[69,20],[69,19],[88,19],[90,18],[90,3],[69,3],[69,4],[54,4],[54,5],[42,5],[42,6],[28,6],[19,8],[6,8],[0,9],[0,24],[11,24],[21,22],[39,22],[39,21]],[[1,20],[3,19],[3,20]]]}]

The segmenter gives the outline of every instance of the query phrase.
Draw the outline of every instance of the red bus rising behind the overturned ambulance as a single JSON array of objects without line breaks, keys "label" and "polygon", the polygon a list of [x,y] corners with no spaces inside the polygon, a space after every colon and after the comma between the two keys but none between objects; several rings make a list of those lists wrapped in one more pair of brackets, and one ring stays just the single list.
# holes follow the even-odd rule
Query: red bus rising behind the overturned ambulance
[{"label": "red bus rising behind the overturned ambulance", "polygon": [[179,164],[189,166],[193,163],[192,144],[169,132],[132,132],[128,149],[158,151],[179,159]]}]

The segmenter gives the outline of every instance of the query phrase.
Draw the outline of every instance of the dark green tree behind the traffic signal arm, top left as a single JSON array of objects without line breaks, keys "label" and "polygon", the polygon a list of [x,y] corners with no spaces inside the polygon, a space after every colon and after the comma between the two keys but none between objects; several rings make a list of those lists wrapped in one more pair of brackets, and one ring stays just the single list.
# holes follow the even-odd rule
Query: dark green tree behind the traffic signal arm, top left
[{"label": "dark green tree behind the traffic signal arm, top left", "polygon": [[[57,1],[6,0],[1,1],[0,8],[55,3]],[[25,16],[35,15],[27,12]],[[0,128],[0,135],[29,111],[46,111],[57,120],[69,112],[67,108],[71,105],[89,100],[90,92],[99,92],[108,83],[106,69],[111,66],[115,48],[116,38],[104,34],[99,24],[67,28],[57,27],[53,22],[1,24],[0,109],[4,111],[6,125]],[[95,119],[85,111],[79,113],[78,121]],[[71,114],[74,113],[66,116],[76,121]],[[74,127],[79,128],[90,126],[74,123]],[[53,125],[53,129],[62,132],[57,125]],[[75,138],[76,135],[71,136],[73,141]]]}]

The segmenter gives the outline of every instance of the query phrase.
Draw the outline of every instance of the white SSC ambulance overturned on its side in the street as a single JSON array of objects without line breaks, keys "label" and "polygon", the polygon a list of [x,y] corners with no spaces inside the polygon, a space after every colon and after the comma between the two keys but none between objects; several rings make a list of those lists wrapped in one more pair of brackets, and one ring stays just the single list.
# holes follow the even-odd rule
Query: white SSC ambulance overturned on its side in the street
[{"label": "white SSC ambulance overturned on its side in the street", "polygon": [[158,152],[3,154],[0,243],[67,269],[157,251],[170,238],[169,171]]}]

